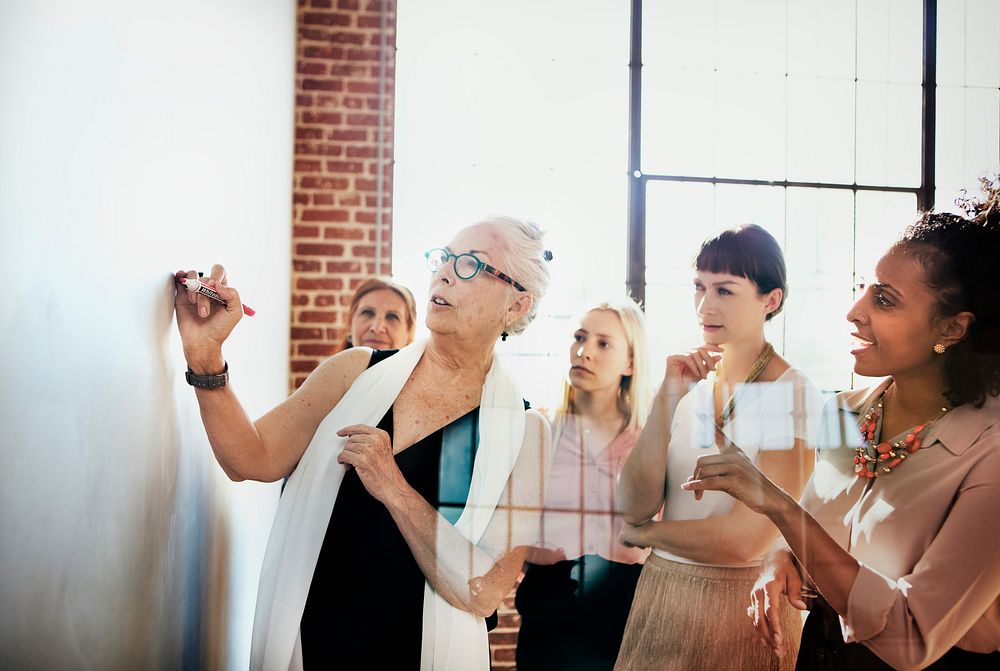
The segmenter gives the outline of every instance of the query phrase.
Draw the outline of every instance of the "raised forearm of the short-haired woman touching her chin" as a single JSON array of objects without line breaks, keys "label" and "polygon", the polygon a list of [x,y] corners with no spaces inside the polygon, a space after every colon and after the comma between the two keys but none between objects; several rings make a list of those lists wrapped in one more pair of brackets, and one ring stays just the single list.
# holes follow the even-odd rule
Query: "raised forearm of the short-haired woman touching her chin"
[{"label": "raised forearm of the short-haired woman touching her chin", "polygon": [[667,446],[677,406],[677,399],[666,387],[657,392],[646,426],[618,476],[618,506],[629,524],[646,522],[663,505]]}]

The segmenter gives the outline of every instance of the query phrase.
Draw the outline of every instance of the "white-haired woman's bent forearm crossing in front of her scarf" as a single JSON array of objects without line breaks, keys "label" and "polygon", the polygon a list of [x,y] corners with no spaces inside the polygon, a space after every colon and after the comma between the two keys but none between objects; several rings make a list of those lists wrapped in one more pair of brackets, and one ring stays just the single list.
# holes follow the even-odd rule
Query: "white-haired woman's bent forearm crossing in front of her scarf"
[{"label": "white-haired woman's bent forearm crossing in front of her scarf", "polygon": [[483,617],[496,610],[517,580],[526,547],[494,561],[405,482],[384,503],[436,592],[453,606]]}]

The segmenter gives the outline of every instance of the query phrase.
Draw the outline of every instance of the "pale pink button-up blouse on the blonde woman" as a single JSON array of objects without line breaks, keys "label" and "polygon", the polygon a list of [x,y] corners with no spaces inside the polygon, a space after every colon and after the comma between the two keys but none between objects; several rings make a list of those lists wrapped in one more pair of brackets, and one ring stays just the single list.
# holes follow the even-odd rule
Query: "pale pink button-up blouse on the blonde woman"
[{"label": "pale pink button-up blouse on the blonde woman", "polygon": [[557,421],[555,431],[558,442],[545,489],[542,547],[562,548],[566,559],[592,554],[624,564],[642,562],[648,549],[618,542],[623,520],[615,501],[615,481],[639,431],[620,433],[597,449],[580,435],[575,417]]}]

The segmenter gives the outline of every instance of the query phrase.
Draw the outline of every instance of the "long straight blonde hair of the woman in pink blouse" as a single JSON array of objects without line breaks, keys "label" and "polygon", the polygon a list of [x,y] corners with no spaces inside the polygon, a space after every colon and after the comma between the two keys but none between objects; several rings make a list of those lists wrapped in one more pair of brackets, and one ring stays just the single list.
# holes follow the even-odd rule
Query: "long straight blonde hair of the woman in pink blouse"
[{"label": "long straight blonde hair of the woman in pink blouse", "polygon": [[[649,347],[646,344],[646,318],[642,309],[631,298],[606,300],[583,310],[580,316],[595,310],[608,310],[618,315],[629,356],[632,357],[632,374],[623,375],[618,389],[618,410],[622,415],[622,431],[635,431],[646,424],[649,408],[653,403],[653,387],[649,376]],[[577,320],[579,323],[580,320]],[[563,379],[562,402],[556,411],[556,418],[576,414],[573,397],[576,390]]]}]

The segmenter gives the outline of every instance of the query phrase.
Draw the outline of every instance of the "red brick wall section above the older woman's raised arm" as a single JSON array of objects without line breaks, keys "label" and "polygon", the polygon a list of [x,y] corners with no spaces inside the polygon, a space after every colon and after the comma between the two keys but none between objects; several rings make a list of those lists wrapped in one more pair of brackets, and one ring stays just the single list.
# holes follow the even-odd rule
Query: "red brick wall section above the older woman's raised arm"
[{"label": "red brick wall section above the older woman's raised arm", "polygon": [[[396,3],[299,0],[297,24],[291,389],[339,350],[357,285],[391,273]],[[380,170],[382,259],[376,269]]]}]

